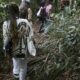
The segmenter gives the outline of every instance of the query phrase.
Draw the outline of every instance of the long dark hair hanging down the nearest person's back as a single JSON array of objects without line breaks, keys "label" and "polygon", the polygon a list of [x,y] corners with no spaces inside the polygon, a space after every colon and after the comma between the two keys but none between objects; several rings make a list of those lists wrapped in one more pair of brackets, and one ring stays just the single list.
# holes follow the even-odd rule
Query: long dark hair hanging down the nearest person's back
[{"label": "long dark hair hanging down the nearest person's back", "polygon": [[17,42],[18,38],[16,17],[19,16],[19,8],[17,4],[10,3],[7,5],[7,10],[10,17],[10,34],[12,39],[12,47],[15,47],[15,43]]}]

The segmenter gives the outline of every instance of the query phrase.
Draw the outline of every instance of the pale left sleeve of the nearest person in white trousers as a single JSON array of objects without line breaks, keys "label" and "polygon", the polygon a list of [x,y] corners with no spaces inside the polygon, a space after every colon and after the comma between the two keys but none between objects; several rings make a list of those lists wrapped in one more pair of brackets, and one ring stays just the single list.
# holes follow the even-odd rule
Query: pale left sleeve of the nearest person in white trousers
[{"label": "pale left sleeve of the nearest person in white trousers", "polygon": [[3,23],[3,49],[5,50],[5,46],[8,42],[8,35],[7,35],[7,22]]}]

